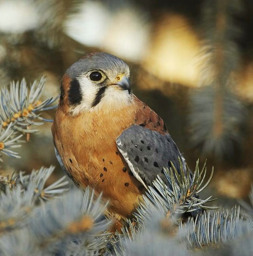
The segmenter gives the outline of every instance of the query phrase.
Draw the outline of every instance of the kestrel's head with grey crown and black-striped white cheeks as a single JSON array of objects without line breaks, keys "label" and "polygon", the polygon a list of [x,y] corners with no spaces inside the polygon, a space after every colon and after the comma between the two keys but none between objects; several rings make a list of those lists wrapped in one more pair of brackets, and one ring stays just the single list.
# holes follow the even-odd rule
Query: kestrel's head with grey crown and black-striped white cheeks
[{"label": "kestrel's head with grey crown and black-striped white cheeks", "polygon": [[86,54],[62,78],[60,106],[73,115],[110,111],[132,103],[126,63],[104,52]]}]

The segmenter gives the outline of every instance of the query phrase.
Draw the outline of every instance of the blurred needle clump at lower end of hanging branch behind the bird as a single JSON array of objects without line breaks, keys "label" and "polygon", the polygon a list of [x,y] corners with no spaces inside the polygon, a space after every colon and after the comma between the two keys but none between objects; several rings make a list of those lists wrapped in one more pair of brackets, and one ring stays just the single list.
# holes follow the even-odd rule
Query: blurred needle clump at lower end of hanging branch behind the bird
[{"label": "blurred needle clump at lower end of hanging branch behind the bird", "polygon": [[235,145],[240,145],[242,125],[247,111],[245,105],[230,90],[222,98],[222,132],[214,136],[215,89],[207,86],[194,90],[190,95],[191,112],[189,114],[191,144],[201,149],[202,156],[213,154],[217,159],[233,156]]}]

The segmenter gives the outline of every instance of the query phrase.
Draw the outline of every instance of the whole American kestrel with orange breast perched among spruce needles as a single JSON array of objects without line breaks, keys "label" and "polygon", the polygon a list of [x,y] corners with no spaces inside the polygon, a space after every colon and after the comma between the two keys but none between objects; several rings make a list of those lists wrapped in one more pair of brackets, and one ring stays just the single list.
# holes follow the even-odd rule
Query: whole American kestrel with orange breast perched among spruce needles
[{"label": "whole American kestrel with orange breast perched among spruce needles", "polygon": [[[52,134],[57,160],[80,187],[110,200],[109,210],[130,217],[163,168],[178,170],[181,154],[166,124],[130,89],[126,63],[90,53],[62,78]],[[185,161],[181,157],[184,169]]]}]

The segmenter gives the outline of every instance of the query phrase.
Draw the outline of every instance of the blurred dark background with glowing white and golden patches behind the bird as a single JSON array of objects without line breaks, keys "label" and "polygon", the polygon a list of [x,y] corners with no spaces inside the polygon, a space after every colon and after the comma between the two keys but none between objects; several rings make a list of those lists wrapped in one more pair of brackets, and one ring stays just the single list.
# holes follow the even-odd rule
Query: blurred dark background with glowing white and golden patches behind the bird
[{"label": "blurred dark background with glowing white and golden patches behind the bird", "polygon": [[[135,95],[167,123],[191,169],[207,160],[216,204],[247,198],[253,178],[252,0],[0,0],[0,86],[47,76],[60,92],[84,54],[112,53],[131,68]],[[43,113],[53,119],[55,111]],[[51,123],[3,156],[1,172],[56,166]]]}]

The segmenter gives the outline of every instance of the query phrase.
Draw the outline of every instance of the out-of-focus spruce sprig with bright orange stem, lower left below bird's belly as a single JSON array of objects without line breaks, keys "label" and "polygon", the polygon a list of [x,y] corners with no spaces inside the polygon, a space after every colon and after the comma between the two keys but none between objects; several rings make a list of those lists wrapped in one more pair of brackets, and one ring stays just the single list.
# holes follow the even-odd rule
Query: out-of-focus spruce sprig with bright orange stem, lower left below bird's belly
[{"label": "out-of-focus spruce sprig with bright orange stem, lower left below bird's belly", "polygon": [[103,215],[106,205],[94,190],[86,188],[83,194],[74,189],[35,209],[29,226],[44,253],[96,253],[110,235],[105,233],[110,225]]}]

